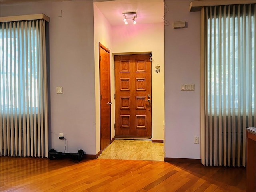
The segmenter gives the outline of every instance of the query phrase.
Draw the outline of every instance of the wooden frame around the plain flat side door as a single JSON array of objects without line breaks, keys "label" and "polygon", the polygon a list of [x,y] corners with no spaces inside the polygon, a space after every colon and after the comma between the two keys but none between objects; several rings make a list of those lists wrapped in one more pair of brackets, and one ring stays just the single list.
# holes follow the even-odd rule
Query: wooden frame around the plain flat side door
[{"label": "wooden frame around the plain flat side door", "polygon": [[[99,42],[99,84],[100,84],[100,49],[104,49],[106,52],[108,52],[108,56],[109,56],[109,68],[111,70],[111,65],[110,65],[110,50],[108,48],[106,48],[103,44],[101,44]],[[110,85],[110,90],[109,90],[109,98],[111,100],[111,72],[109,70],[109,85]],[[101,111],[102,111],[102,106],[101,106],[101,84],[99,85],[99,88],[100,88],[100,152],[102,152],[102,137],[101,137],[101,134],[102,134],[102,124],[101,124]],[[111,101],[110,101],[111,102]],[[109,144],[111,143],[111,106],[110,106],[110,127],[109,127]]]}]

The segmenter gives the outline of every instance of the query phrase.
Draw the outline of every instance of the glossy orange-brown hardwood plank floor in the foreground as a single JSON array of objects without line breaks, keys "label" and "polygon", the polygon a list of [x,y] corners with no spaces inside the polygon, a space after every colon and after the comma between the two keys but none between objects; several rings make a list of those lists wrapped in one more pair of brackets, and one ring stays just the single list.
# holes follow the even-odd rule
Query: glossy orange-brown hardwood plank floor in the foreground
[{"label": "glossy orange-brown hardwood plank floor in the foreground", "polygon": [[1,156],[4,191],[241,192],[246,169],[163,161],[24,158]]}]

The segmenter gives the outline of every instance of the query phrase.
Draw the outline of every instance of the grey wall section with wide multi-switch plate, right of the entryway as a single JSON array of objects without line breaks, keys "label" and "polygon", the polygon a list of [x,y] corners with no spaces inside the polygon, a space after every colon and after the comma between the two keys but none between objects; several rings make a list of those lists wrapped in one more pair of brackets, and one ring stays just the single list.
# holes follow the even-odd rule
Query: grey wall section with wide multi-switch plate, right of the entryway
[{"label": "grey wall section with wide multi-switch plate, right of the entryway", "polygon": [[[165,3],[165,157],[200,159],[200,12],[189,12],[190,1]],[[183,20],[187,28],[173,29]],[[194,83],[195,91],[180,91],[182,83]]]}]

